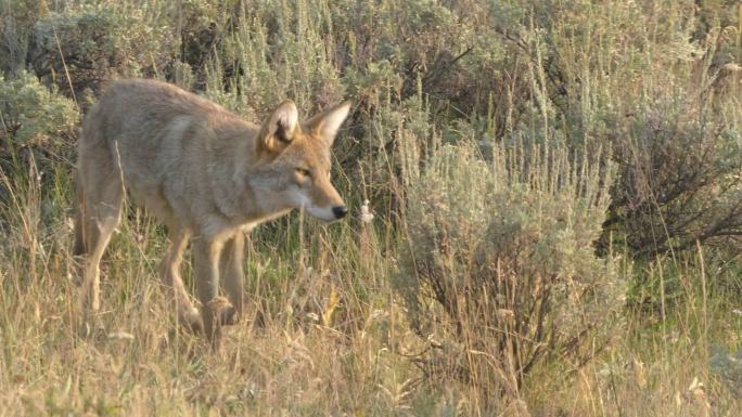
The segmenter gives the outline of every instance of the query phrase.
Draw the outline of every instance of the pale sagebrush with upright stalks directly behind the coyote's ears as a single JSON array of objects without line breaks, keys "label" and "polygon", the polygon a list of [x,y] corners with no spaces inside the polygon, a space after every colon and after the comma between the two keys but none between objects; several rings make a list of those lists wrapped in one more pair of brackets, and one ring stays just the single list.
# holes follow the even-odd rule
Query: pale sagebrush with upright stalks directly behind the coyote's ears
[{"label": "pale sagebrush with upright stalks directly behind the coyote's ears", "polygon": [[225,39],[223,53],[209,61],[207,94],[247,118],[285,97],[307,115],[341,101],[328,4],[309,3],[257,2],[232,16],[240,24]]}]

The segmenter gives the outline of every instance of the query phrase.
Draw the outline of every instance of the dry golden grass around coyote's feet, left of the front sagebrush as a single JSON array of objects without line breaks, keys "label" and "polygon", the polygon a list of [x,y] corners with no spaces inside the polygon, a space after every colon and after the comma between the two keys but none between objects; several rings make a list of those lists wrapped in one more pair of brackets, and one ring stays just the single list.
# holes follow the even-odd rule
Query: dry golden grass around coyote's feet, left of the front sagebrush
[{"label": "dry golden grass around coyote's feet, left of the front sagebrush", "polygon": [[[63,217],[38,223],[35,180],[27,194],[9,185],[18,201],[9,218],[18,223],[2,247],[0,415],[388,415],[426,395],[412,390],[413,365],[391,350],[412,349],[412,339],[379,288],[383,269],[350,275],[319,225],[302,245],[316,246],[324,263],[251,257],[253,315],[213,352],[176,330],[155,273],[163,238],[132,212],[107,252],[103,328],[79,337],[69,225]],[[358,236],[336,227],[337,245],[354,245]]]}]

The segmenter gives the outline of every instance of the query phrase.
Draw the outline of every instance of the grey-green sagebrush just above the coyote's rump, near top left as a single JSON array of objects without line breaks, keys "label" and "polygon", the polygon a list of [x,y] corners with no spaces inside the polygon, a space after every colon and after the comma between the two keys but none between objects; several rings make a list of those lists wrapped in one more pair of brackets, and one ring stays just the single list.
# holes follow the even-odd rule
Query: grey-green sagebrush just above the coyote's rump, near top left
[{"label": "grey-green sagebrush just above the coyote's rump, near top left", "polygon": [[157,14],[150,8],[156,5],[85,5],[51,13],[34,25],[29,65],[67,96],[97,95],[115,77],[155,76],[171,65],[176,40],[168,26],[150,21]]}]

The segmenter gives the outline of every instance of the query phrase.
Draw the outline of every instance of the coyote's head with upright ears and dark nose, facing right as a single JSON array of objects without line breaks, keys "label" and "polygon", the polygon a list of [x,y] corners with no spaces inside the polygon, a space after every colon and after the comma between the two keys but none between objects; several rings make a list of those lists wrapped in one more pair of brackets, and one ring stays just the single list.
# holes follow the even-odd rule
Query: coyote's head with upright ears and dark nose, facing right
[{"label": "coyote's head with upright ears and dark nose, facing right", "polygon": [[263,123],[248,182],[265,212],[304,208],[324,221],[345,217],[348,209],[330,182],[330,148],[349,109],[343,103],[299,122],[296,106],[285,101]]}]

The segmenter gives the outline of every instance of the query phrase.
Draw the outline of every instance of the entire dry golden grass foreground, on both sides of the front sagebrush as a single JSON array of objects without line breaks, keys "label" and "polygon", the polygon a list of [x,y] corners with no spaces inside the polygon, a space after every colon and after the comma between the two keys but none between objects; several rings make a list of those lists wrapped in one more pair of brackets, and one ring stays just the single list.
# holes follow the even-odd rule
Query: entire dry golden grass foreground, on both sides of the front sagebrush
[{"label": "entire dry golden grass foreground, on both sides of the front sagebrush", "polygon": [[452,375],[428,378],[415,366],[428,344],[410,331],[388,284],[394,257],[356,221],[309,222],[298,239],[289,226],[254,243],[253,313],[213,352],[176,330],[155,276],[162,231],[130,211],[104,263],[103,328],[82,338],[64,205],[48,207],[42,196],[54,192],[42,193],[34,171],[3,173],[2,184],[14,205],[2,213],[0,416],[731,417],[742,409],[707,365],[711,341],[739,346],[742,318],[717,298],[703,301],[693,284],[702,271],[689,264],[671,278],[661,263],[643,271],[680,286],[671,309],[662,302],[664,321],[661,311],[626,311],[628,331],[609,351],[579,369],[538,367],[517,401],[483,396],[486,386]]}]

